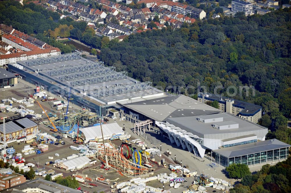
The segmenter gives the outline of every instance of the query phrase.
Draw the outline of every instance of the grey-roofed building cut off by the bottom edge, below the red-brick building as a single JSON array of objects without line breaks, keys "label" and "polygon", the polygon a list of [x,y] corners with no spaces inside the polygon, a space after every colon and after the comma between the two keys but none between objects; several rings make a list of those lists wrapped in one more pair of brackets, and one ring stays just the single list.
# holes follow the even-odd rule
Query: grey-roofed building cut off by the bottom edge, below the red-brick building
[{"label": "grey-roofed building cut off by the bottom edge, below the red-brick building", "polygon": [[27,181],[12,188],[2,190],[1,193],[81,193],[80,190],[76,190],[67,186],[63,186],[54,182],[50,182],[41,178],[36,178],[31,181]]}]

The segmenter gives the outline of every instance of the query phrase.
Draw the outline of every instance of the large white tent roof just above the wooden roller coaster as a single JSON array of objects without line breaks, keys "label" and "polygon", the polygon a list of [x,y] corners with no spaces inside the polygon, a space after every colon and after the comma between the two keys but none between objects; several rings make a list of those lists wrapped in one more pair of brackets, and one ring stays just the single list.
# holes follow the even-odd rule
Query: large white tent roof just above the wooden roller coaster
[{"label": "large white tent roof just above the wooden roller coaster", "polygon": [[[124,134],[124,131],[117,123],[102,124],[104,140],[111,138],[113,135]],[[100,125],[82,128],[81,131],[85,135],[85,142],[89,140],[102,140]]]}]

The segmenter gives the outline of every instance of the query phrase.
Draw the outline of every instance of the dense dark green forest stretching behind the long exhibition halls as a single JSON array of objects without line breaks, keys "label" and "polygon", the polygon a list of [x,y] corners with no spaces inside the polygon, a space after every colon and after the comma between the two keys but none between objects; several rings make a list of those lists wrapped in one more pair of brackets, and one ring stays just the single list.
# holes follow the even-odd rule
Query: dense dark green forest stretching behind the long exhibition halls
[{"label": "dense dark green forest stretching behind the long exhibition halls", "polygon": [[[0,2],[0,22],[33,35],[62,53],[74,50],[56,41],[57,36],[72,37],[92,48],[102,48],[100,59],[107,66],[154,86],[176,93],[168,86],[179,87],[185,95],[198,91],[227,95],[240,86],[252,86],[232,98],[262,106],[260,124],[272,132],[268,138],[291,143],[291,10],[245,17],[222,16],[194,24],[147,30],[128,36],[123,42],[96,37],[86,22],[59,19],[58,12],[33,3],[21,6],[16,1]],[[198,90],[198,85],[206,90]],[[184,90],[187,86],[190,89]],[[193,96],[194,98],[196,95]]]}]

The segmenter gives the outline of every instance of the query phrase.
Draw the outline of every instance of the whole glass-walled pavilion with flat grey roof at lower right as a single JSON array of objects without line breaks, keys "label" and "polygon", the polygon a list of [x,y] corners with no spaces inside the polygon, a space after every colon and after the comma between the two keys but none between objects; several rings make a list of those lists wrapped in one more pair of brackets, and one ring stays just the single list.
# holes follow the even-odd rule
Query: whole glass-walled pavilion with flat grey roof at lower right
[{"label": "whole glass-walled pavilion with flat grey roof at lower right", "polygon": [[255,165],[288,158],[290,146],[277,139],[271,139],[212,150],[211,155],[213,161],[223,167],[233,163]]}]

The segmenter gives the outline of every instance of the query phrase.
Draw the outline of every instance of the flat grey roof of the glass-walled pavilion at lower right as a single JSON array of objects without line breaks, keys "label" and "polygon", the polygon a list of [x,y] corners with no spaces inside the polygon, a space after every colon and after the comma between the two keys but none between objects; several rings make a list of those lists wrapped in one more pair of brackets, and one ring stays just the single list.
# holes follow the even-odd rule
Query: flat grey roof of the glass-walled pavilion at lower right
[{"label": "flat grey roof of the glass-walled pavilion at lower right", "polygon": [[227,158],[232,158],[285,147],[291,147],[291,145],[288,145],[277,139],[272,139],[244,145],[236,145],[222,149],[216,149],[213,151]]}]

